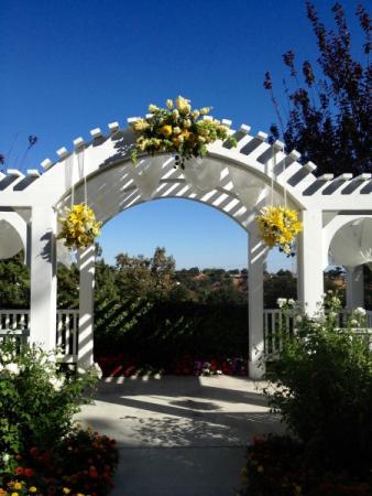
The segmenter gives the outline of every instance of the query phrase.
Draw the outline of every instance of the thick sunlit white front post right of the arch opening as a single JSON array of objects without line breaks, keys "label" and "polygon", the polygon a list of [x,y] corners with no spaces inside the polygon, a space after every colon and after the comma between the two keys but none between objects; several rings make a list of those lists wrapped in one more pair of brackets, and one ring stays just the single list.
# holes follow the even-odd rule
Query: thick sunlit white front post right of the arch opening
[{"label": "thick sunlit white front post right of the arch opening", "polygon": [[322,216],[320,209],[303,211],[304,229],[297,247],[297,299],[314,315],[324,293]]}]

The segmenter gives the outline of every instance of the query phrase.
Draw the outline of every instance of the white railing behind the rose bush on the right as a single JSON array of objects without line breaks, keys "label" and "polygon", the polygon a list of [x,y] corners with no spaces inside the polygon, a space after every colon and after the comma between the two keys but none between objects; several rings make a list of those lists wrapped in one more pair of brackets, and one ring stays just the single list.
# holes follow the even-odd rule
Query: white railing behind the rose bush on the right
[{"label": "white railing behind the rose bush on the right", "polygon": [[[344,327],[351,311],[342,309],[336,317],[336,325]],[[276,358],[283,349],[282,335],[293,335],[295,322],[293,315],[284,315],[281,309],[267,309],[263,312],[264,349],[269,359]],[[365,337],[365,342],[372,346],[372,311],[368,310],[365,315],[365,327],[355,328],[355,334]]]}]

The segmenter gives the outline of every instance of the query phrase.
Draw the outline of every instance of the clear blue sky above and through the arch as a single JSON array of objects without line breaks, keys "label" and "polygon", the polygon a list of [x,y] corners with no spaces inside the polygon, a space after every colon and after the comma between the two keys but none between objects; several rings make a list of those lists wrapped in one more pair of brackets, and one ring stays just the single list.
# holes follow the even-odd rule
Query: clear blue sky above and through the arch
[{"label": "clear blue sky above and through the arch", "polygon": [[[355,47],[357,1],[343,1]],[[315,0],[329,25],[333,1]],[[212,115],[267,130],[274,110],[262,86],[270,69],[280,94],[282,54],[316,58],[302,0],[3,0],[0,18],[0,151],[19,166],[29,134],[39,143],[23,169],[89,130],[146,112],[177,95]],[[169,203],[171,202],[171,203]],[[119,251],[151,256],[165,246],[180,267],[245,267],[247,234],[222,214],[186,201],[150,202],[103,229],[108,261]],[[273,252],[269,268],[288,266]]]}]

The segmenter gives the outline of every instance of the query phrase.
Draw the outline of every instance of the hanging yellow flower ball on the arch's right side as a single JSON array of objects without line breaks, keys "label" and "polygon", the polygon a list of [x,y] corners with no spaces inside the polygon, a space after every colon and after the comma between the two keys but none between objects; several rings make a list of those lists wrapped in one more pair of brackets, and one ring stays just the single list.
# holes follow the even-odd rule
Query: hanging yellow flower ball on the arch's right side
[{"label": "hanging yellow flower ball on the arch's right side", "polygon": [[293,255],[295,237],[303,229],[296,211],[283,206],[262,208],[256,217],[262,240],[270,247],[277,246],[286,256]]}]

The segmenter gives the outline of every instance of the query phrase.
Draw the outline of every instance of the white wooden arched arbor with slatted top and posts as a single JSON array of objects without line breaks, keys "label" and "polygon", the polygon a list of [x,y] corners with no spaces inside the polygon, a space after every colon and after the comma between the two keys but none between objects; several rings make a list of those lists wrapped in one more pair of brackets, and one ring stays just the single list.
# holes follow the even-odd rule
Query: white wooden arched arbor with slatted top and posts
[{"label": "white wooden arched arbor with slatted top and posts", "polygon": [[[129,119],[130,121],[130,119]],[[231,122],[223,123],[230,127]],[[297,247],[298,299],[314,313],[324,292],[322,272],[329,259],[348,268],[348,304],[363,305],[360,267],[372,262],[372,175],[342,174],[316,177],[316,165],[298,163],[299,154],[283,153],[283,143],[269,144],[267,136],[249,133],[242,125],[231,133],[238,147],[222,142],[209,147],[209,155],[185,171],[174,168],[174,159],[162,154],[143,157],[136,166],[130,161],[134,136],[118,122],[105,134],[90,131],[91,140],[74,140],[73,151],[61,148],[58,160],[42,162],[45,172],[23,175],[9,169],[0,174],[0,258],[25,249],[31,267],[30,338],[55,346],[56,261],[66,261],[58,242],[57,214],[72,202],[84,201],[98,220],[110,220],[121,211],[155,198],[188,198],[212,206],[234,219],[249,234],[249,375],[260,378],[263,368],[263,269],[267,248],[262,244],[254,217],[274,203],[300,212],[304,230]],[[72,190],[74,186],[74,190]],[[130,234],[128,234],[130,235]],[[68,257],[67,257],[68,258]],[[92,362],[94,248],[78,254],[80,268],[79,363]]]}]

